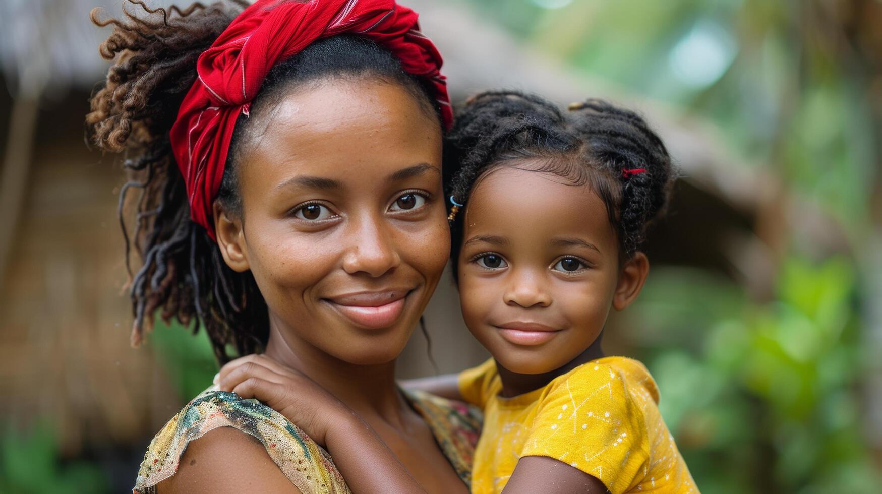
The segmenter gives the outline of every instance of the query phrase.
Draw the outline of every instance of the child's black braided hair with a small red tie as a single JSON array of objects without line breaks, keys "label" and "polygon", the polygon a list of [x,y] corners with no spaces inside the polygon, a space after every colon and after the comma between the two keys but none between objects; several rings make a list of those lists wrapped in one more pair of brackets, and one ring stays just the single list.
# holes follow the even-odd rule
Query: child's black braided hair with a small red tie
[{"label": "child's black braided hair with a small red tie", "polygon": [[[561,111],[534,94],[490,91],[470,98],[445,138],[447,193],[464,203],[475,183],[506,161],[590,183],[607,206],[620,251],[630,258],[668,203],[676,169],[662,139],[636,113],[601,100]],[[459,257],[463,214],[452,221]]]}]

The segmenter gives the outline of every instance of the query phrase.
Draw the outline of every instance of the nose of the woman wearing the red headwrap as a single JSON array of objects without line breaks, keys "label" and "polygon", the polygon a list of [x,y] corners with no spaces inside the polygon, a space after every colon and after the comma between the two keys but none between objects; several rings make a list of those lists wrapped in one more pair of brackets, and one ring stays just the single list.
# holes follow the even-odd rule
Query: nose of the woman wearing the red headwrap
[{"label": "nose of the woman wearing the red headwrap", "polygon": [[367,273],[378,278],[401,264],[401,257],[385,222],[377,218],[356,221],[347,235],[350,247],[343,258],[343,270],[349,274]]}]

